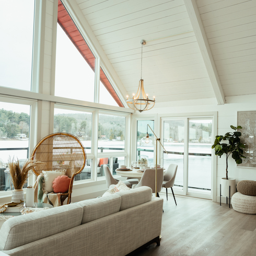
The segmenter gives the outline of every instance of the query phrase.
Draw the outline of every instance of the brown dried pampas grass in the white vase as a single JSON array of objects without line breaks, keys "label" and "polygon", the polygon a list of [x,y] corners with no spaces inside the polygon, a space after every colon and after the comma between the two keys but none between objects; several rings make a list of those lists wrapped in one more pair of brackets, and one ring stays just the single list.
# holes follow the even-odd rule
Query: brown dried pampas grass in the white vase
[{"label": "brown dried pampas grass in the white vase", "polygon": [[13,184],[14,184],[14,188],[22,189],[28,179],[29,170],[31,170],[32,168],[37,167],[39,165],[42,165],[42,164],[45,164],[45,163],[28,159],[25,162],[22,169],[20,169],[18,159],[17,159],[17,161],[14,161],[14,159],[12,161],[9,160],[8,167],[9,167],[9,171],[10,171],[11,180],[13,181]]}]

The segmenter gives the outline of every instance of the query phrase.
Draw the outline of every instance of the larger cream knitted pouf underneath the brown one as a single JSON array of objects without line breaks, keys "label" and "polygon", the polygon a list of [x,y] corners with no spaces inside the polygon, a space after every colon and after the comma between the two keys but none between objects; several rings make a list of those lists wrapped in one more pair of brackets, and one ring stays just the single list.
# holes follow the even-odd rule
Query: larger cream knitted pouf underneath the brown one
[{"label": "larger cream knitted pouf underneath the brown one", "polygon": [[232,195],[232,207],[239,213],[256,214],[256,196],[236,192]]}]

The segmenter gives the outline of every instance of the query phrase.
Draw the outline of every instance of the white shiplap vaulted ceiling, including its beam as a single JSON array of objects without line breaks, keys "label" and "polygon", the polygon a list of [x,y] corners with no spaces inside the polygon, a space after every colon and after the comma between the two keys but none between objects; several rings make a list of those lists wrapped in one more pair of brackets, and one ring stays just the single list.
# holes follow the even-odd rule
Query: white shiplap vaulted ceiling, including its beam
[{"label": "white shiplap vaulted ceiling, including its beam", "polygon": [[[76,0],[127,94],[157,102],[256,94],[255,0]],[[124,92],[124,95],[126,92]]]}]

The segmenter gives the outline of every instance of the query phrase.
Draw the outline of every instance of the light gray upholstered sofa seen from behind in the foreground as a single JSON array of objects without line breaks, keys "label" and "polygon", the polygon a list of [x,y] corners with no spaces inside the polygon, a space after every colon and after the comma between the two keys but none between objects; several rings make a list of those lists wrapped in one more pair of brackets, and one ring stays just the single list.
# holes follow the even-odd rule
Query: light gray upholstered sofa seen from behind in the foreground
[{"label": "light gray upholstered sofa seen from behind in the foreground", "polygon": [[120,191],[10,218],[0,230],[0,251],[122,256],[149,241],[159,243],[161,218],[162,199],[152,197],[152,189]]}]

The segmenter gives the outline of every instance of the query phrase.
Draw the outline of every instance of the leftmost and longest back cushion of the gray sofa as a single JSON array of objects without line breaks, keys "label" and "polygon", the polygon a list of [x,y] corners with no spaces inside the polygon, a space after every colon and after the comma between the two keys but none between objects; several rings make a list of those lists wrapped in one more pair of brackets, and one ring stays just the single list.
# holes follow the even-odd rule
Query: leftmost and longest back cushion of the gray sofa
[{"label": "leftmost and longest back cushion of the gray sofa", "polygon": [[82,217],[83,208],[80,205],[68,204],[10,218],[1,228],[0,251],[11,250],[79,226]]}]

